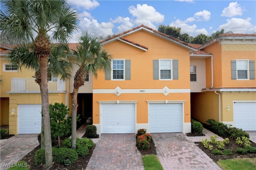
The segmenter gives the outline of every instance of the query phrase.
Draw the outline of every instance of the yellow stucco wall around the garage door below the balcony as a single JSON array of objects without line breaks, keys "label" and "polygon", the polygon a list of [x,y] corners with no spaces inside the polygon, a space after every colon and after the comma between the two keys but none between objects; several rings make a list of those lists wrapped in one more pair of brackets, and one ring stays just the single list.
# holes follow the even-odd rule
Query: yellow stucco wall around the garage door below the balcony
[{"label": "yellow stucco wall around the garage door below the balcony", "polygon": [[[50,93],[49,104],[64,103],[66,101],[66,93]],[[9,104],[9,134],[18,134],[18,104],[41,104],[41,94],[39,93],[24,93],[10,94]],[[10,115],[12,108],[15,110],[14,116]]]}]

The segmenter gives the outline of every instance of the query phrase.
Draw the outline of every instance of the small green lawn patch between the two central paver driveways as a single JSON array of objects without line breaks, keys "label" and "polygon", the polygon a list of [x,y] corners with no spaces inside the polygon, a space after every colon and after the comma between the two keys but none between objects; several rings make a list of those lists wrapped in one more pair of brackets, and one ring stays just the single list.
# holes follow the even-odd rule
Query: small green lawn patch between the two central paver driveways
[{"label": "small green lawn patch between the two central paver driveways", "polygon": [[146,155],[142,157],[145,170],[163,170],[156,155]]}]

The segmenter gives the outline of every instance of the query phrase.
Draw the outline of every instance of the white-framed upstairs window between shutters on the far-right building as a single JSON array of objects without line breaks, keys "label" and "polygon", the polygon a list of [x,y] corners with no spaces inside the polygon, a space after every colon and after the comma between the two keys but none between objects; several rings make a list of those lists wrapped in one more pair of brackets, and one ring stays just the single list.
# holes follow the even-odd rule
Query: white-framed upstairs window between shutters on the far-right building
[{"label": "white-framed upstairs window between shutters on the far-right building", "polygon": [[236,60],[237,79],[248,80],[248,60]]}]

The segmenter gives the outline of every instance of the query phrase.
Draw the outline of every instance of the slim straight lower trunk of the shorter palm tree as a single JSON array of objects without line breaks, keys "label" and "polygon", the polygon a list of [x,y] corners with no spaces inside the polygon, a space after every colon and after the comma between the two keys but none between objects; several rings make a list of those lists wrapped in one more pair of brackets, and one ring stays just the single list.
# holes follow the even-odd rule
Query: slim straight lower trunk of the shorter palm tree
[{"label": "slim straight lower trunk of the shorter palm tree", "polygon": [[71,148],[76,149],[76,116],[77,116],[77,94],[79,88],[73,90],[73,103],[72,103],[72,129],[71,129]]}]

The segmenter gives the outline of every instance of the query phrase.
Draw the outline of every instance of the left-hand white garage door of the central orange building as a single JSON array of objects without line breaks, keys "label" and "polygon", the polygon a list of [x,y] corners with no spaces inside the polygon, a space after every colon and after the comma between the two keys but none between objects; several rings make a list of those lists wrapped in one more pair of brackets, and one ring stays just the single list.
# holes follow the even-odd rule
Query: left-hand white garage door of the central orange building
[{"label": "left-hand white garage door of the central orange building", "polygon": [[135,133],[135,104],[101,104],[101,133]]}]

